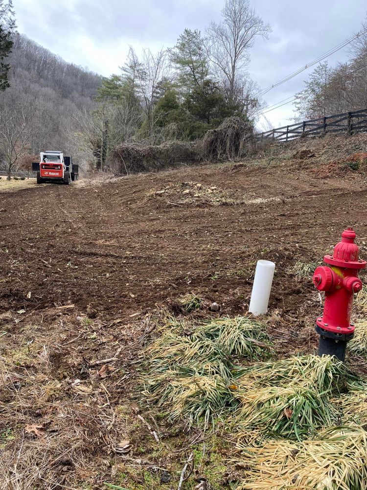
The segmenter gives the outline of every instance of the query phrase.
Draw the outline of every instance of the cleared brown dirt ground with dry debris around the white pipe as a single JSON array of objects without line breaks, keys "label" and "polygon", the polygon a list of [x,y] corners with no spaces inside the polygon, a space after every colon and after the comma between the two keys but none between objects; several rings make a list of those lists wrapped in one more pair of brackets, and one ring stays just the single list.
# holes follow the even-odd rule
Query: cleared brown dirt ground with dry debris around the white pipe
[{"label": "cleared brown dirt ground with dry debris around the white pipe", "polygon": [[[260,258],[276,263],[266,323],[277,354],[314,351],[322,305],[295,264],[321,261],[347,226],[367,255],[365,169],[323,178],[314,166],[284,159],[0,188],[1,489],[177,488],[182,443],[159,452],[136,415],[149,318],[186,293],[245,315]],[[133,462],[116,451],[121,440]]]}]

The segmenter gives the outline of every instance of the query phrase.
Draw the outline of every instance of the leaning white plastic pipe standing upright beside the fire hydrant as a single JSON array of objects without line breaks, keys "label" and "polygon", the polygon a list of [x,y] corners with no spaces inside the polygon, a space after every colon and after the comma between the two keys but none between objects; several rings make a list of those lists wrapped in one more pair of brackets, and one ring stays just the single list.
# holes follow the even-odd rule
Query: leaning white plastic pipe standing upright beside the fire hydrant
[{"label": "leaning white plastic pipe standing upright beside the fire hydrant", "polygon": [[268,311],[274,270],[274,262],[270,262],[270,260],[257,261],[249,308],[249,312],[255,317],[257,315],[265,315]]}]

